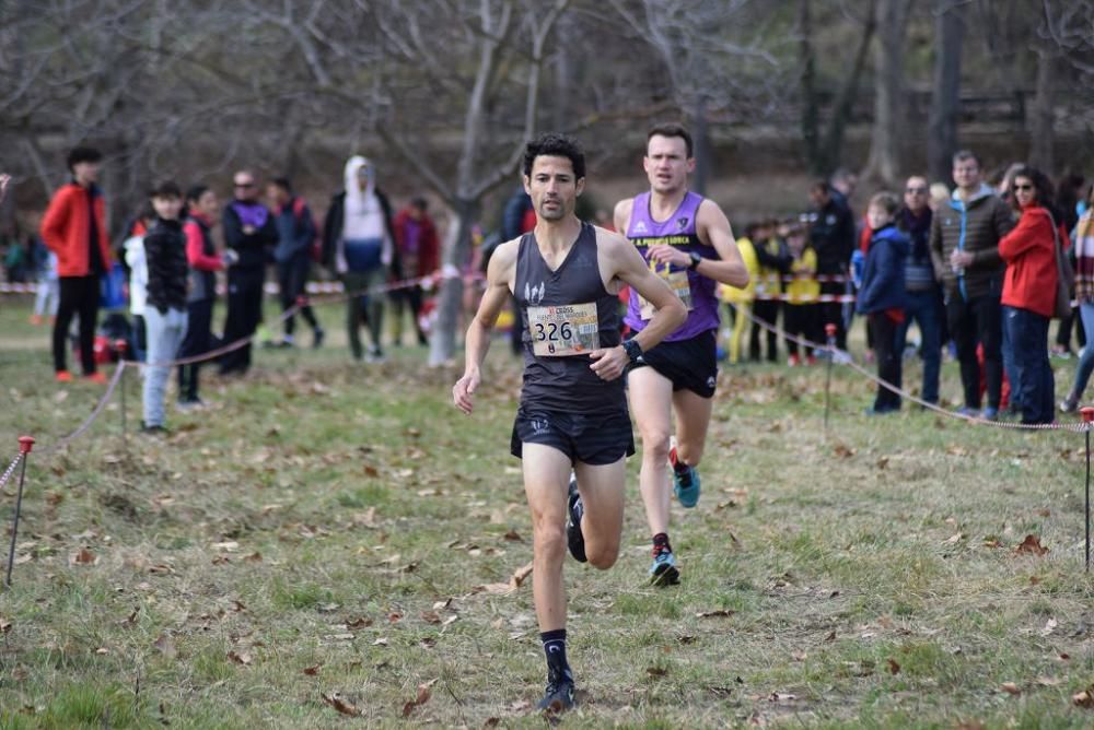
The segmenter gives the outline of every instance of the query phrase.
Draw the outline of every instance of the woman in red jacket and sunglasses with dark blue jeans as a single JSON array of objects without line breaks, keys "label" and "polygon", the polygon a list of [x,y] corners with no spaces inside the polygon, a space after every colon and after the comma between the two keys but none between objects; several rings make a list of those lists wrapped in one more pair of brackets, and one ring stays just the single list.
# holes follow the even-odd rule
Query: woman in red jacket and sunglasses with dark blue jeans
[{"label": "woman in red jacket and sunglasses with dark blue jeans", "polygon": [[1044,173],[1023,167],[1014,175],[1011,190],[1022,217],[999,240],[999,256],[1006,262],[1003,326],[1017,372],[1022,423],[1051,423],[1056,403],[1048,325],[1056,309],[1056,240],[1059,237],[1064,249],[1070,242],[1051,210],[1052,184]]}]

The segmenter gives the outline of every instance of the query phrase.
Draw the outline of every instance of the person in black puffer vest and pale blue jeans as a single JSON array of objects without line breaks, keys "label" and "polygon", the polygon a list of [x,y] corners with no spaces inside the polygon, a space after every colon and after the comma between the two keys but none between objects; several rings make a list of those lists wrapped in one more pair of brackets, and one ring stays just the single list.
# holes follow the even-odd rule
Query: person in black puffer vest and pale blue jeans
[{"label": "person in black puffer vest and pale blue jeans", "polygon": [[148,365],[144,367],[144,433],[163,433],[163,400],[171,367],[186,334],[186,236],[178,214],[183,191],[163,182],[150,193],[155,221],[144,235],[148,264],[148,298],[144,327]]}]

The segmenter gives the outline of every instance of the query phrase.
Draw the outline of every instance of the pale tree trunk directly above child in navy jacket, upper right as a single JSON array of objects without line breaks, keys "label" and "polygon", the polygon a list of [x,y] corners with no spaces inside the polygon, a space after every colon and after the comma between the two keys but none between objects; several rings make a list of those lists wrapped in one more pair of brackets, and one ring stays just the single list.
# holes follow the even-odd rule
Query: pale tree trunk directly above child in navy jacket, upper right
[{"label": "pale tree trunk directly above child in navy jacket, upper right", "polygon": [[880,0],[874,46],[874,128],[863,177],[893,186],[900,174],[904,140],[904,46],[909,0]]}]

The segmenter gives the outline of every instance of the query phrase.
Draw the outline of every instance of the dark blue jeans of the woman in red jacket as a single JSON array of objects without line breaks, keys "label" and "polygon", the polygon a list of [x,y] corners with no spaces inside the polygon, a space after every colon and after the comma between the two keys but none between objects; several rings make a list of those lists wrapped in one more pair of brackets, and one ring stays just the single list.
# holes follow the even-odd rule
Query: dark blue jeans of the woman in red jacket
[{"label": "dark blue jeans of the woman in red jacket", "polygon": [[1049,318],[1028,309],[1003,307],[1003,327],[1011,343],[1011,357],[1017,370],[1017,392],[1022,423],[1052,423],[1056,396],[1052,392],[1052,366],[1048,362]]}]

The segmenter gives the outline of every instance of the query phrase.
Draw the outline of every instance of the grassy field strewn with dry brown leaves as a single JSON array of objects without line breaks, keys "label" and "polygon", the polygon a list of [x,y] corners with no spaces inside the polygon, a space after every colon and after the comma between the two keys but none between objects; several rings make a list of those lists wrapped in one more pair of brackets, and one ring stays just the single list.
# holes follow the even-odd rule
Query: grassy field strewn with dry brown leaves
[{"label": "grassy field strewn with dry brown leaves", "polygon": [[[16,435],[47,448],[102,389],[56,386],[25,301],[2,306],[5,466]],[[214,407],[170,412],[165,439],[124,438],[116,398],[32,455],[0,728],[543,723],[515,361],[499,343],[465,417],[455,370],[417,349],[353,364],[340,311],[322,316],[329,348],[209,376]],[[956,379],[947,364],[944,397]],[[702,499],[674,506],[679,587],[644,582],[631,460],[619,563],[567,565],[581,706],[562,723],[1094,725],[1073,697],[1094,705],[1082,436],[870,419],[870,385],[837,369],[825,437],[823,382],[723,368]]]}]

